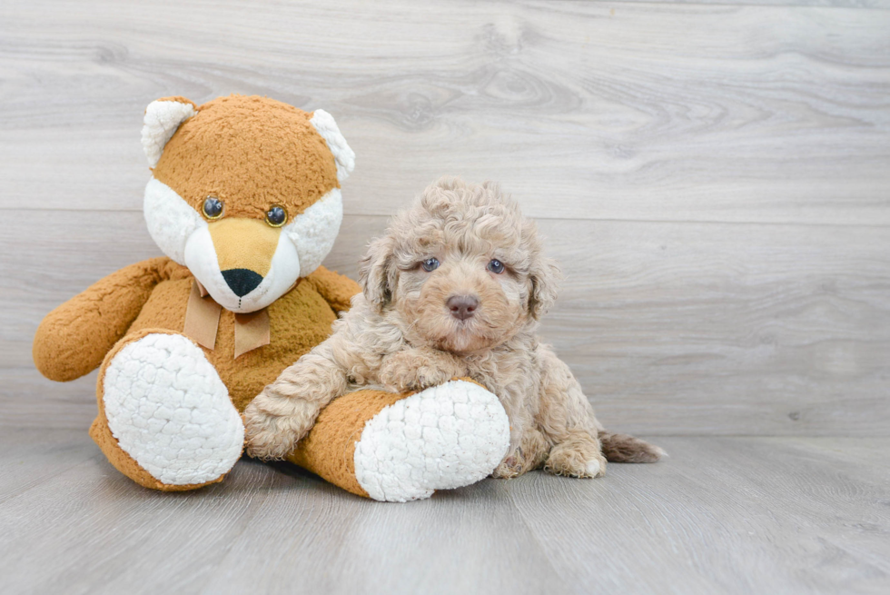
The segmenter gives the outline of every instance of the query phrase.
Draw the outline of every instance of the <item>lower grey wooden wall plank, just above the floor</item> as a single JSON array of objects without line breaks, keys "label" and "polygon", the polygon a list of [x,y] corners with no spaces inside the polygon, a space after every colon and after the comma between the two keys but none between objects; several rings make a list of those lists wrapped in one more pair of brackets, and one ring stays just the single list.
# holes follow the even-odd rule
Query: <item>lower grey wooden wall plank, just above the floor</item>
[{"label": "lower grey wooden wall plank, just above the floor", "polygon": [[[46,213],[40,222],[6,213],[13,216],[0,222],[0,265],[9,271],[0,278],[5,419],[75,427],[94,412],[94,379],[74,388],[30,369],[36,326],[100,276],[159,252],[140,213]],[[365,244],[385,223],[346,217],[326,264],[354,278]],[[885,229],[560,220],[539,227],[567,277],[541,334],[608,426],[651,435],[890,432]],[[20,243],[29,251],[17,253]]]}]

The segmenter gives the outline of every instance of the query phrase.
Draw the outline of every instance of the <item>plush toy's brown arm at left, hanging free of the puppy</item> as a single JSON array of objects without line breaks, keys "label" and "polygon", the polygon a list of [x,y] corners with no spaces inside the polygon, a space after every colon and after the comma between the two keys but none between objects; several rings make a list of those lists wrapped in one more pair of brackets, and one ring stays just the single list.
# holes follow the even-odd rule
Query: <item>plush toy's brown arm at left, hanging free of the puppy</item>
[{"label": "plush toy's brown arm at left, hanging free of the puppy", "polygon": [[34,362],[46,378],[67,382],[102,363],[139,315],[154,286],[180,265],[169,258],[131,264],[46,315],[34,338]]}]

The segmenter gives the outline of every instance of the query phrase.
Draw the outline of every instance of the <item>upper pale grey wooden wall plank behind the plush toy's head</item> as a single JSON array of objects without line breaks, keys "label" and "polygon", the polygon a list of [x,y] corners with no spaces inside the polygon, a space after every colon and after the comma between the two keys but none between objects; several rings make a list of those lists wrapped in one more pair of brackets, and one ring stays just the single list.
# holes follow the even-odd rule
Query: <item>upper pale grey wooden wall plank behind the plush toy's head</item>
[{"label": "upper pale grey wooden wall plank behind the plush toy's head", "polygon": [[[890,224],[890,12],[588,2],[0,9],[0,206],[138,210],[144,106],[335,114],[347,213],[440,174],[537,217]],[[96,18],[95,15],[102,15]]]}]

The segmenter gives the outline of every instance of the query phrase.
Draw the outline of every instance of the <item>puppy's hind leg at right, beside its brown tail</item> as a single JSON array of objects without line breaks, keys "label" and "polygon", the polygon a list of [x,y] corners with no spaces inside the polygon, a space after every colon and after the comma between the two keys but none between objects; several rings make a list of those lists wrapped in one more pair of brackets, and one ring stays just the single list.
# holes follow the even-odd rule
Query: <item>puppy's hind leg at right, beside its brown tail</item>
[{"label": "puppy's hind leg at right, beside its brown tail", "polygon": [[548,347],[538,348],[541,365],[539,426],[554,444],[544,471],[571,477],[599,477],[606,458],[598,440],[599,422],[581,386]]}]

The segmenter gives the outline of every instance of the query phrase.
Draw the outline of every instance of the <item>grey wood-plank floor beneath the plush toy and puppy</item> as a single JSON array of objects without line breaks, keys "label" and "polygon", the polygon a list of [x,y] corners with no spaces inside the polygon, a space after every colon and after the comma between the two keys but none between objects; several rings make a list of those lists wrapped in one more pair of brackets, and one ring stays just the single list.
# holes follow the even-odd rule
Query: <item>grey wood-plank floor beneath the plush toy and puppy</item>
[{"label": "grey wood-plank floor beneath the plush toy and puppy", "polygon": [[[381,504],[239,462],[143,490],[85,432],[0,434],[9,592],[884,593],[886,439],[665,438],[600,480],[530,473]],[[32,471],[17,471],[25,466]]]}]

